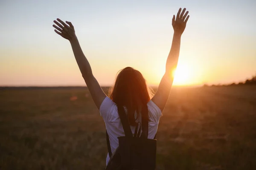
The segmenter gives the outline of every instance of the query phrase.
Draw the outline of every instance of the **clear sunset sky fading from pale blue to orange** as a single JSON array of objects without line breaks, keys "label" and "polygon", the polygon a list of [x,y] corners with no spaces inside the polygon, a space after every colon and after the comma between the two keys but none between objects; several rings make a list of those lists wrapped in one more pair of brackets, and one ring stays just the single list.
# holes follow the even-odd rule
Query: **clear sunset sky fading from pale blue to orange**
[{"label": "clear sunset sky fading from pale blue to orange", "polygon": [[100,85],[131,66],[158,85],[172,15],[189,10],[175,85],[239,82],[256,73],[256,0],[1,0],[0,86],[85,85],[57,17],[73,23]]}]

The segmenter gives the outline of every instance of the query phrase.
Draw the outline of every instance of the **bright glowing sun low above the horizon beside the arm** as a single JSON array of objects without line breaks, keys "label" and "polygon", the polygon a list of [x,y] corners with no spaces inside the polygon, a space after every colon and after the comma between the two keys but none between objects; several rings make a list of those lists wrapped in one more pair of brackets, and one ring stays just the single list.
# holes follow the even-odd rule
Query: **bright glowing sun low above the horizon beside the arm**
[{"label": "bright glowing sun low above the horizon beside the arm", "polygon": [[186,65],[178,65],[177,68],[172,71],[174,77],[174,85],[189,85],[190,71]]}]

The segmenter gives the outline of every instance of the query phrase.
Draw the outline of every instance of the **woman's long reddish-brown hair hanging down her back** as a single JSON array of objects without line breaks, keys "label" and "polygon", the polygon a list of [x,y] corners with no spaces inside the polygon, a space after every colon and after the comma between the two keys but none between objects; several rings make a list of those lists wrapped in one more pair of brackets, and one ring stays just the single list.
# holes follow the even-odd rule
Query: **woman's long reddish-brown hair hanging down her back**
[{"label": "woman's long reddish-brown hair hanging down her back", "polygon": [[117,106],[125,106],[128,111],[130,125],[136,125],[134,113],[142,114],[142,119],[148,120],[147,103],[151,99],[152,90],[140,71],[126,67],[119,71],[113,88],[109,91],[110,99]]}]

